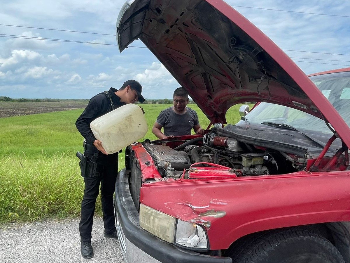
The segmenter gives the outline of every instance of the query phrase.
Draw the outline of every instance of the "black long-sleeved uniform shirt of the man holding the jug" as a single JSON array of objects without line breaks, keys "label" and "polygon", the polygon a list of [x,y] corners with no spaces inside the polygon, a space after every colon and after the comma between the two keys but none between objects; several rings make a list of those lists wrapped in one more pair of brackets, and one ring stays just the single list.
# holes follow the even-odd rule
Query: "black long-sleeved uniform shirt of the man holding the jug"
[{"label": "black long-sleeved uniform shirt of the man holding the jug", "polygon": [[[120,97],[118,97],[114,93],[116,91],[117,89],[115,88],[110,88],[110,90],[108,91],[112,96],[111,99],[113,102],[114,109],[126,104],[124,102],[120,102]],[[78,117],[77,121],[75,122],[75,126],[77,127],[79,133],[85,138],[86,143],[93,144],[93,142],[96,140],[95,136],[91,131],[90,123],[94,119],[111,111],[111,101],[103,92],[97,94],[96,96],[93,96],[90,99],[83,113]]]}]

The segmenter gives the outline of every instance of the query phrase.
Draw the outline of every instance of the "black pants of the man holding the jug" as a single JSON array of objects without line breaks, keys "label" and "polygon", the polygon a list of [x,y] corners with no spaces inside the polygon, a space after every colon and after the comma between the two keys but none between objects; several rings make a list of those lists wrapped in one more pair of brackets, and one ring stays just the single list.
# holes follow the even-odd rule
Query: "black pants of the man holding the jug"
[{"label": "black pants of the man holding the jug", "polygon": [[[86,155],[87,157],[91,157],[90,154]],[[110,233],[116,231],[113,193],[118,173],[118,153],[113,155],[102,155],[103,154],[100,153],[96,161],[99,164],[99,176],[84,177],[85,190],[81,206],[81,219],[79,223],[79,234],[81,241],[91,242],[93,215],[95,213],[96,198],[98,196],[100,186],[105,232]]]}]

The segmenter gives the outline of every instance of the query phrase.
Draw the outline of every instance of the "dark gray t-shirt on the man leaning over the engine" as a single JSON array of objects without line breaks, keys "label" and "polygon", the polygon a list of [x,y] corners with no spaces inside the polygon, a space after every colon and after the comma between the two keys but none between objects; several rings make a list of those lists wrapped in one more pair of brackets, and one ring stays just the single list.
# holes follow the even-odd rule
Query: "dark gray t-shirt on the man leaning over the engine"
[{"label": "dark gray t-shirt on the man leaning over the engine", "polygon": [[192,128],[199,124],[197,113],[187,108],[184,114],[176,114],[172,107],[162,110],[157,118],[159,125],[163,126],[166,136],[191,135]]}]

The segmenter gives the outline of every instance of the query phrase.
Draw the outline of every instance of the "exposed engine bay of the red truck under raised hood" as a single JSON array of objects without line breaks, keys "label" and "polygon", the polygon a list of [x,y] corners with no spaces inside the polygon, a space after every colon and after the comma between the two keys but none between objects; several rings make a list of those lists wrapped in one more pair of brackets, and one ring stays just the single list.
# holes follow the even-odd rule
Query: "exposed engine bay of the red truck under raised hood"
[{"label": "exposed engine bay of the red truck under raised hood", "polygon": [[144,148],[164,178],[190,178],[188,172],[199,167],[226,168],[234,176],[287,174],[306,168],[307,155],[297,156],[282,151],[240,142],[211,130],[203,137],[178,142],[145,141]]}]

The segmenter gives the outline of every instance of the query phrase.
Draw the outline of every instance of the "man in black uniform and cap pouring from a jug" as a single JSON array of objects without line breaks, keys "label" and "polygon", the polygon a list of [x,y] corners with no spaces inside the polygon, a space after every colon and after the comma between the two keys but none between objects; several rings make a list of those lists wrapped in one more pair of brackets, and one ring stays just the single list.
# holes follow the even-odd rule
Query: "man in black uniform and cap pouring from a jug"
[{"label": "man in black uniform and cap pouring from a jug", "polygon": [[108,92],[99,93],[92,97],[75,123],[78,131],[86,140],[84,157],[87,159],[87,166],[85,174],[82,174],[84,176],[85,190],[79,223],[80,252],[83,258],[93,257],[91,231],[100,184],[104,236],[118,239],[113,209],[114,184],[118,173],[118,153],[110,155],[106,153],[101,141],[96,140],[94,137],[90,129],[90,123],[97,117],[125,104],[134,103],[137,100],[144,102],[145,99],[141,92],[142,87],[139,82],[128,80],[124,82],[119,90],[110,88]]}]

